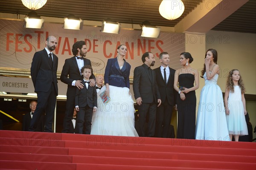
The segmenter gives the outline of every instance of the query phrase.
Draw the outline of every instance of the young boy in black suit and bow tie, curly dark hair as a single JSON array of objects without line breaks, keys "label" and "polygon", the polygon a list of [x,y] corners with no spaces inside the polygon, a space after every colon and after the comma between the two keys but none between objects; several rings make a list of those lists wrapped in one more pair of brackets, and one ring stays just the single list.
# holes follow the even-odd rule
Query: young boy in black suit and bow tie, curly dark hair
[{"label": "young boy in black suit and bow tie, curly dark hair", "polygon": [[76,89],[75,106],[77,113],[77,123],[75,133],[83,133],[85,122],[85,134],[90,134],[93,111],[97,109],[96,86],[89,85],[89,78],[93,73],[90,65],[81,68],[82,78],[80,79],[84,88]]}]

